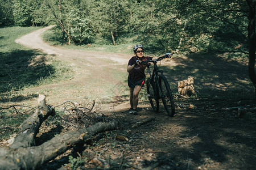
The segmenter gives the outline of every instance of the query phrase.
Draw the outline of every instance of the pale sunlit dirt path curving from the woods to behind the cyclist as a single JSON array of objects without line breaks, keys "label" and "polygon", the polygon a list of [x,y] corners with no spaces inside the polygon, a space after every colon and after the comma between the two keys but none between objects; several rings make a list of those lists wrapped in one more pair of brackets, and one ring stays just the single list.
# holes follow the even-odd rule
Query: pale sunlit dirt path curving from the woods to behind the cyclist
[{"label": "pale sunlit dirt path curving from the woods to behind the cyclist", "polygon": [[[100,66],[123,65],[127,63],[127,59],[130,58],[130,56],[126,54],[89,52],[84,50],[64,49],[56,46],[51,46],[42,40],[41,35],[44,31],[47,31],[52,27],[54,27],[54,25],[50,25],[48,27],[38,29],[34,32],[29,33],[28,35],[20,37],[19,39],[15,40],[15,42],[28,46],[29,48],[32,48],[32,49],[42,50],[47,54],[56,55],[60,59],[64,59],[66,61],[72,62],[75,65],[78,65],[81,67],[91,66],[93,63],[93,66],[99,66],[97,67],[96,70],[100,70],[102,68]],[[102,59],[112,59],[113,63],[108,64],[108,63],[102,62]],[[92,67],[92,69],[94,68],[95,67]],[[101,73],[104,74],[104,71],[102,71]],[[105,76],[102,74],[97,74],[97,75]]]}]

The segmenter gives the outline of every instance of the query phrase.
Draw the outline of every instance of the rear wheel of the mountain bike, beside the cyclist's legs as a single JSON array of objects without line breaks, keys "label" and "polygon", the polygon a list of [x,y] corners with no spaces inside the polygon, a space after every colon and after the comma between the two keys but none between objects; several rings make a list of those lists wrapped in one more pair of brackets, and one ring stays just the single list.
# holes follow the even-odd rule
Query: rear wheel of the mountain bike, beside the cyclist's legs
[{"label": "rear wheel of the mountain bike, beside the cyclist's legs", "polygon": [[156,87],[154,80],[151,78],[147,79],[147,96],[150,101],[151,107],[155,112],[159,111],[159,100],[158,95],[156,94]]}]

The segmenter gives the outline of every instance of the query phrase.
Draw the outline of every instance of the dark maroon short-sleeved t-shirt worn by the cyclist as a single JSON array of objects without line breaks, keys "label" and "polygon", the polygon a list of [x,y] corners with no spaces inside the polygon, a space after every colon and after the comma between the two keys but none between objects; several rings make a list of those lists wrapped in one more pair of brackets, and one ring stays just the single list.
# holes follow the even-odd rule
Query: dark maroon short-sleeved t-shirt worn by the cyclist
[{"label": "dark maroon short-sleeved t-shirt worn by the cyclist", "polygon": [[[153,57],[144,57],[143,56],[141,58],[141,61],[145,61],[145,60],[152,59],[152,58]],[[138,58],[136,56],[131,57],[131,59],[128,62],[128,65],[132,66],[137,59]],[[137,66],[134,67],[133,70],[130,71],[128,79],[131,80],[132,82],[137,82],[138,80],[144,79],[146,77],[145,69],[146,69],[146,65],[138,64]]]}]

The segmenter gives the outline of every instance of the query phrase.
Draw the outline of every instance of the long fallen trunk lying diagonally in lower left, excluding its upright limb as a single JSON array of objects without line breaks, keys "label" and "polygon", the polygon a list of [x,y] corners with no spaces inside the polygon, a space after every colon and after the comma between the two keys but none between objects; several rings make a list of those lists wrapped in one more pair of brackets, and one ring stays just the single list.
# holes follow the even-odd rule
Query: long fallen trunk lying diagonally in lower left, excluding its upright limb
[{"label": "long fallen trunk lying diagonally in lower left, excluding its upright limb", "polygon": [[115,123],[98,123],[89,128],[70,131],[36,147],[0,148],[0,169],[38,169],[69,148],[98,133],[115,129]]}]

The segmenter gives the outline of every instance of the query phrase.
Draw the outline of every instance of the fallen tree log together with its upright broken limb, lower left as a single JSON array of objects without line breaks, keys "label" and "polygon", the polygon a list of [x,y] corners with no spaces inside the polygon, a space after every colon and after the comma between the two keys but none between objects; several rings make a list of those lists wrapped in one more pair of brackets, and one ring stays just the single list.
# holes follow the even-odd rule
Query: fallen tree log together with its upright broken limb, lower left
[{"label": "fallen tree log together with its upright broken limb, lower left", "polygon": [[[54,111],[53,108],[46,107],[45,103],[45,96],[39,95],[38,108],[23,122],[13,145],[9,148],[0,148],[0,169],[38,169],[73,146],[84,143],[93,135],[114,130],[117,126],[115,122],[100,122],[89,128],[70,131],[54,137],[40,146],[34,146],[40,125]],[[22,139],[24,139],[24,144]]]}]

